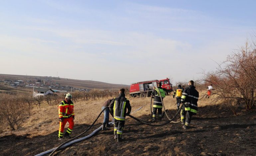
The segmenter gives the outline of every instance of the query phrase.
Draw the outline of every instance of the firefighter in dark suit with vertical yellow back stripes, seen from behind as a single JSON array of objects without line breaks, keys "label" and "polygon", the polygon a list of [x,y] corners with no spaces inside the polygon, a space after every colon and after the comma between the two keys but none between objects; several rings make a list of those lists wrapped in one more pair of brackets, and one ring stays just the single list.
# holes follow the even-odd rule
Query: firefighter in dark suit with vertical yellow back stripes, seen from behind
[{"label": "firefighter in dark suit with vertical yellow back stripes, seen from behind", "polygon": [[[117,142],[122,141],[125,117],[132,110],[130,101],[125,98],[124,91],[123,88],[120,89],[119,96],[115,97],[109,105],[110,112],[114,115],[114,139],[117,139]],[[126,113],[127,109],[128,112]]]}]

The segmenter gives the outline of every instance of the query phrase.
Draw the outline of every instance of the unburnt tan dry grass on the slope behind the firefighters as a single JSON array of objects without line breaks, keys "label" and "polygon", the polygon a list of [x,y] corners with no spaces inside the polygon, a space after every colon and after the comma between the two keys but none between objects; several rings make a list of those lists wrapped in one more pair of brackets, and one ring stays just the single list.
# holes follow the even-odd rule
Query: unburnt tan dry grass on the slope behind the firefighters
[{"label": "unburnt tan dry grass on the slope behind the firefighters", "polygon": [[[131,98],[127,97],[130,100],[132,106],[132,116],[140,117],[142,115],[149,115],[150,113],[150,101],[151,97],[148,98]],[[101,112],[101,105],[110,98],[103,98],[98,100],[90,101],[79,101],[74,104],[75,120],[76,124],[91,124],[98,114]],[[153,103],[152,99],[152,103]],[[198,107],[206,106],[210,104],[210,99],[202,99],[198,101]],[[146,104],[146,105],[145,105]],[[47,135],[59,130],[59,117],[58,117],[58,105],[53,104],[49,106],[46,102],[41,105],[41,108],[38,106],[33,106],[31,110],[31,116],[25,120],[21,128],[18,130],[10,130],[9,126],[6,125],[6,129],[3,129],[3,133],[0,136],[4,135],[25,135],[31,134],[30,137],[37,135]],[[136,111],[141,106],[139,111]],[[176,109],[176,98],[172,96],[167,96],[164,98],[164,105],[166,109],[174,110]],[[134,112],[136,111],[136,112]],[[198,109],[200,111],[200,108]],[[127,117],[128,118],[128,117]],[[109,120],[112,120],[112,117],[109,117]],[[99,117],[96,123],[101,123],[103,121],[103,114]],[[74,125],[74,130],[76,126]],[[68,123],[66,124],[68,127]]]}]

